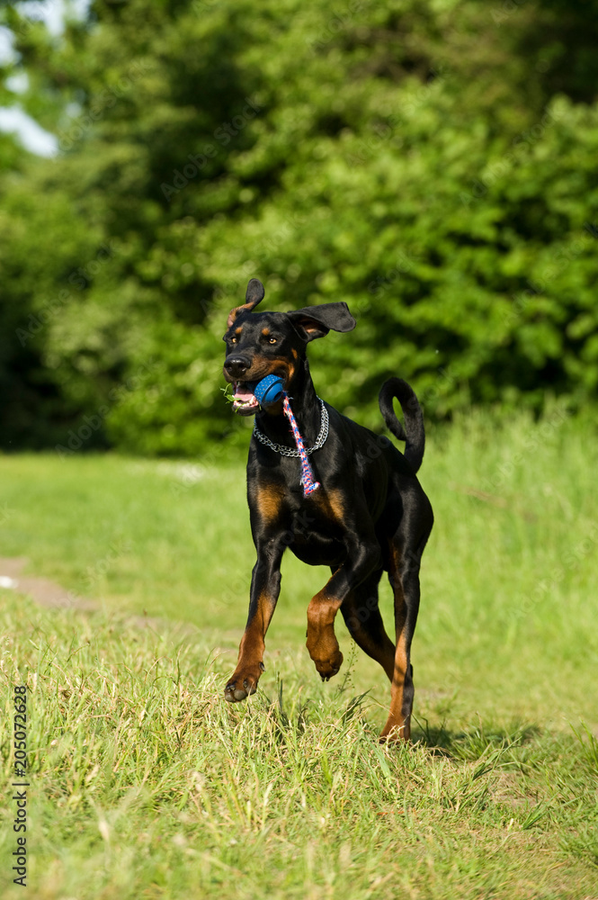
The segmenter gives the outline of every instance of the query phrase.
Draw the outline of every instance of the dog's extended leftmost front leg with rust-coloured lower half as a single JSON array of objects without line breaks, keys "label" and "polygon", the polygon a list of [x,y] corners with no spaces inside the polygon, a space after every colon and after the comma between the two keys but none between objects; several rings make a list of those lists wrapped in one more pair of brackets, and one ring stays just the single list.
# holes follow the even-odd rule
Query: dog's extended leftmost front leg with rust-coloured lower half
[{"label": "dog's extended leftmost front leg with rust-coloured lower half", "polygon": [[257,562],[251,579],[251,599],[245,634],[239,646],[237,669],[228,681],[224,696],[231,703],[254,694],[263,669],[264,638],[281,592],[280,540],[257,545]]}]

